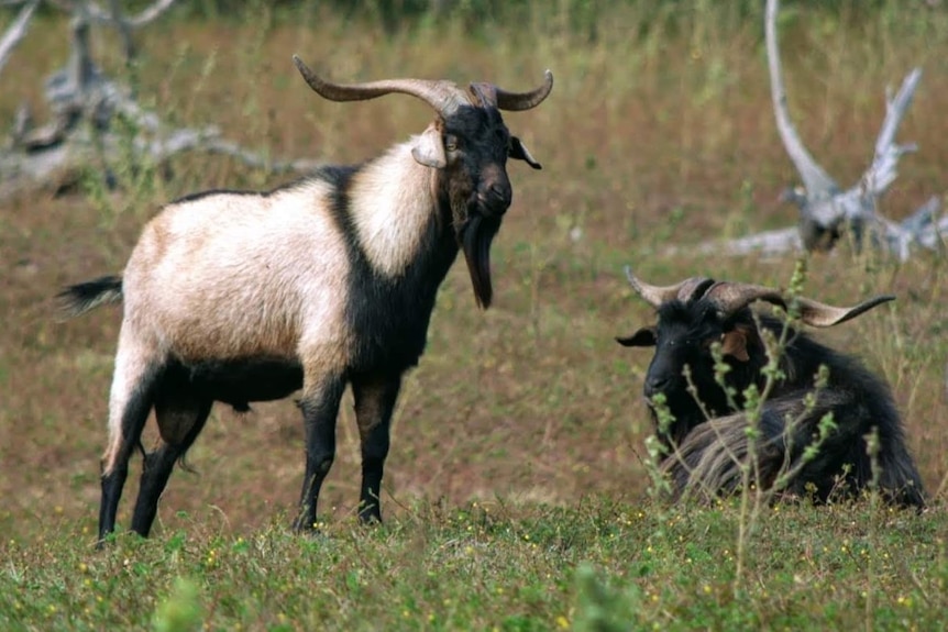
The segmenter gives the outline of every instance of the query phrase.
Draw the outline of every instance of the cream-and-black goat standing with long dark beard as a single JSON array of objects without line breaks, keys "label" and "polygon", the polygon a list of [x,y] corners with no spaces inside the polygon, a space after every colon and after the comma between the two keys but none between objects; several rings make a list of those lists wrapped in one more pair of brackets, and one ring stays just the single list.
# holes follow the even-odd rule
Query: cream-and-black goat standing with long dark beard
[{"label": "cream-and-black goat standing with long dark beard", "polygon": [[147,535],[174,464],[220,401],[302,389],[306,475],[297,530],[316,522],[335,456],[335,424],[352,385],[362,444],[360,519],[377,521],[389,424],[403,374],[418,364],[438,287],[463,250],[477,304],[490,304],[490,242],[511,201],[507,158],[540,165],[499,110],[528,110],[532,91],[451,81],[326,81],[332,101],[392,92],[437,112],[425,132],[357,166],[326,166],[268,192],[208,191],[166,206],[144,229],[123,277],[60,295],[71,314],[124,302],[102,458],[99,539],[114,530],[142,429],[155,409],[161,445],[145,454],[132,530]]}]

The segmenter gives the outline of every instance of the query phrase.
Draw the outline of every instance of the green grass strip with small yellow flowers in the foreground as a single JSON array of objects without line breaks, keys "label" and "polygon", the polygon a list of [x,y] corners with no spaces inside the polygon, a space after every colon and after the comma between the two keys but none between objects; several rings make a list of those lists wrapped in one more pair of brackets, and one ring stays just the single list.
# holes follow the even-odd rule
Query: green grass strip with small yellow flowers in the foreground
[{"label": "green grass strip with small yellow flowers in the foreground", "polygon": [[[774,506],[735,581],[737,509],[587,497],[416,503],[384,528],[231,533],[176,515],[162,537],[90,545],[37,524],[0,553],[4,630],[761,630],[944,625],[944,512]],[[173,624],[177,622],[176,624]],[[177,625],[177,627],[176,627]]]}]

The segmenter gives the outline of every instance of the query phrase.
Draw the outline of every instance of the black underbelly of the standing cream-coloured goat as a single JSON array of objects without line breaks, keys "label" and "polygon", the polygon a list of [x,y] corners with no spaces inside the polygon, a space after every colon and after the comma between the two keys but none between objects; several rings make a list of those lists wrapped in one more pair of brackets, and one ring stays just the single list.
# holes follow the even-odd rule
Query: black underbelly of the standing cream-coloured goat
[{"label": "black underbelly of the standing cream-coloured goat", "polygon": [[247,357],[177,363],[197,395],[243,411],[253,401],[284,399],[302,388],[302,366],[284,357]]}]

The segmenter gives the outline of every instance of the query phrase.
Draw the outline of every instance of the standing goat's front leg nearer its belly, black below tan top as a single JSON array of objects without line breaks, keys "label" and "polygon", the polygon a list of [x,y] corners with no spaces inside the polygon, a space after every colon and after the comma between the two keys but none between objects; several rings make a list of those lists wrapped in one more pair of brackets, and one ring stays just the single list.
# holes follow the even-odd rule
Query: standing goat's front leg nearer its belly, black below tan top
[{"label": "standing goat's front leg nearer its belly, black below tan top", "polygon": [[335,418],[344,389],[345,380],[342,377],[324,376],[318,385],[305,388],[299,401],[306,435],[306,475],[299,499],[299,515],[294,524],[296,531],[316,529],[319,490],[335,459]]}]

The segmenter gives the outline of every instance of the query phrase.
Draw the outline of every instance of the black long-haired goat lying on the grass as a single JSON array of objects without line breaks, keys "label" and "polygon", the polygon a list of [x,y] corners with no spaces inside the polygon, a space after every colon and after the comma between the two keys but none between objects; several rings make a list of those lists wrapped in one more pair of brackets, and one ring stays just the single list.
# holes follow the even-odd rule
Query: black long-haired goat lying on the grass
[{"label": "black long-haired goat lying on the grass", "polygon": [[[745,392],[764,389],[762,369],[768,351],[762,332],[779,340],[783,321],[754,315],[749,306],[763,300],[784,309],[783,295],[760,286],[690,278],[675,286],[657,287],[627,271],[632,288],[658,310],[658,325],[616,339],[625,346],[654,346],[655,355],[644,381],[646,398],[664,396],[671,424],[660,431],[668,456],[662,468],[675,495],[730,492],[741,483],[748,455]],[[874,308],[893,297],[878,297],[853,308],[835,308],[798,298],[801,321],[830,326]],[[759,325],[758,325],[759,323]],[[922,480],[905,446],[899,413],[888,386],[855,358],[824,346],[800,331],[789,331],[780,356],[782,377],[765,400],[760,417],[754,483],[772,488],[784,474],[791,494],[815,491],[819,500],[841,488],[858,492],[872,481],[872,458],[866,436],[878,433],[879,488],[895,505],[922,507]],[[729,366],[724,381],[715,377],[713,343],[720,343]],[[820,367],[828,369],[826,385],[817,388]],[[686,370],[687,367],[687,370]],[[687,375],[685,375],[687,373]],[[693,387],[693,388],[691,388]],[[815,403],[807,403],[815,396]],[[654,404],[650,406],[658,424]],[[833,414],[836,426],[820,437],[820,420]],[[818,444],[814,443],[818,442]],[[807,446],[816,448],[807,454]],[[783,485],[782,485],[783,486]]]}]

